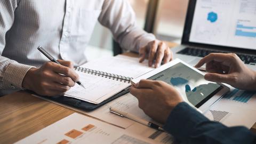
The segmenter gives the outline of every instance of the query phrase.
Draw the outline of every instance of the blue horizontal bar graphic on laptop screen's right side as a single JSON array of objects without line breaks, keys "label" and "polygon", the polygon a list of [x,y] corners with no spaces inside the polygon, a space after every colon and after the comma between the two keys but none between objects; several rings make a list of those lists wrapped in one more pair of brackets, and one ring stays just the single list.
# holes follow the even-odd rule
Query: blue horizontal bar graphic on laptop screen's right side
[{"label": "blue horizontal bar graphic on laptop screen's right side", "polygon": [[256,38],[255,30],[256,30],[256,27],[245,26],[242,22],[237,22],[235,35]]}]

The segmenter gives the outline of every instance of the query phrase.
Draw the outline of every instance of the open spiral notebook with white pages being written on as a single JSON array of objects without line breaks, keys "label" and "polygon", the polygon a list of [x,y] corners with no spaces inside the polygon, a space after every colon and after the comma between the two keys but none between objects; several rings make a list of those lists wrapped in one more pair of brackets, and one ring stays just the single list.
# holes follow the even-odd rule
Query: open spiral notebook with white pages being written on
[{"label": "open spiral notebook with white pages being written on", "polygon": [[131,79],[151,71],[146,63],[123,55],[86,63],[75,70],[85,89],[79,85],[71,87],[66,97],[99,104],[129,89]]}]

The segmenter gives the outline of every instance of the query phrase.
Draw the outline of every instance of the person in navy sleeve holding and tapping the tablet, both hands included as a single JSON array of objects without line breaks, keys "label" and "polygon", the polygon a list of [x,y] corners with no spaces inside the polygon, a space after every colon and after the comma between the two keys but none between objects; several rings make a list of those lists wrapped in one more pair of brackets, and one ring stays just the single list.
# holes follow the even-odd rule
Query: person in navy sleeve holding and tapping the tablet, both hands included
[{"label": "person in navy sleeve holding and tapping the tablet, both hands included", "polygon": [[[237,89],[255,91],[256,72],[247,68],[236,54],[212,53],[197,63],[206,63],[207,81],[227,83]],[[256,143],[246,127],[227,127],[212,122],[183,102],[179,92],[161,81],[141,80],[131,87],[139,107],[164,125],[165,131],[181,143]]]}]

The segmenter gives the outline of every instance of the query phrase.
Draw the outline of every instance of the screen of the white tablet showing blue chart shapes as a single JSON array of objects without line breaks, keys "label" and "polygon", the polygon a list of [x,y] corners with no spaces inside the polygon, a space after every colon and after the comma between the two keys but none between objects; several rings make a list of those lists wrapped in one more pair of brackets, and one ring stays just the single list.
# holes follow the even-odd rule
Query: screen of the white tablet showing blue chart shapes
[{"label": "screen of the white tablet showing blue chart shapes", "polygon": [[197,108],[222,89],[221,85],[206,81],[202,74],[181,62],[148,79],[164,81],[174,86],[185,101],[189,101]]}]

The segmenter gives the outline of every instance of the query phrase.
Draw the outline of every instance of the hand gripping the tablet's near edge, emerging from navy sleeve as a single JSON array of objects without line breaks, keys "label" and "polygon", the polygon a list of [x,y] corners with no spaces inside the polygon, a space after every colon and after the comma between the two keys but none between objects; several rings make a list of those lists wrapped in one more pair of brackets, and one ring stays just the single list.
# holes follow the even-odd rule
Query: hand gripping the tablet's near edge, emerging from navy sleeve
[{"label": "hand gripping the tablet's near edge, emerging from navy sleeve", "polygon": [[141,80],[131,86],[130,92],[138,99],[144,113],[162,124],[172,109],[183,101],[174,87],[162,81]]}]

